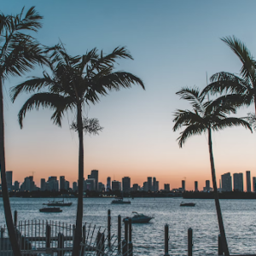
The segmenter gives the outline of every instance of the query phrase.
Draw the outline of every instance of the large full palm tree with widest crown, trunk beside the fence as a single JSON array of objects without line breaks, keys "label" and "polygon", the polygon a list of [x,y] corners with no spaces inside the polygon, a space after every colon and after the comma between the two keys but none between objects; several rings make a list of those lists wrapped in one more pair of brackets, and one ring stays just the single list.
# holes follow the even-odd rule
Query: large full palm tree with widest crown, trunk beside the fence
[{"label": "large full palm tree with widest crown, trunk beside the fence", "polygon": [[17,85],[12,91],[13,101],[22,91],[34,92],[48,89],[49,92],[38,92],[31,96],[20,109],[19,121],[22,127],[26,112],[32,108],[52,108],[51,116],[55,125],[61,126],[63,114],[76,110],[75,128],[79,133],[79,199],[77,208],[76,230],[73,241],[73,256],[79,255],[79,244],[82,236],[83,219],[83,180],[84,180],[84,137],[82,109],[85,104],[100,101],[99,96],[106,96],[108,90],[130,88],[131,84],[143,81],[127,72],[114,71],[117,59],[132,59],[125,47],[117,47],[109,55],[91,49],[85,55],[67,55],[62,44],[49,49],[49,62],[52,63],[51,75],[44,72],[44,77],[33,78]]}]

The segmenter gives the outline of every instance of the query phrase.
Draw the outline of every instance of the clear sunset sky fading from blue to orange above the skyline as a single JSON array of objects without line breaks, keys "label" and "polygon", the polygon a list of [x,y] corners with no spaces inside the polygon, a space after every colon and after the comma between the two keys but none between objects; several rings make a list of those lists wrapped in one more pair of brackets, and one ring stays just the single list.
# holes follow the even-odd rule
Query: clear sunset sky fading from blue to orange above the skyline
[{"label": "clear sunset sky fading from blue to orange above the skyline", "polygon": [[[179,131],[173,132],[173,113],[189,108],[175,94],[182,87],[207,85],[207,77],[225,71],[238,74],[241,62],[220,38],[235,35],[256,53],[254,32],[255,1],[20,1],[1,3],[4,15],[16,15],[36,6],[44,16],[44,26],[32,34],[41,44],[65,44],[70,55],[102,49],[110,53],[125,46],[134,58],[120,60],[116,70],[134,73],[143,79],[138,85],[111,91],[96,105],[84,108],[84,116],[97,118],[104,127],[98,136],[84,137],[84,177],[99,170],[99,181],[107,177],[143,185],[156,177],[160,189],[199,189],[211,180],[207,136],[189,138],[179,148]],[[65,176],[70,183],[78,179],[79,140],[69,127],[74,113],[67,113],[62,127],[52,124],[48,109],[26,114],[23,129],[17,114],[29,95],[10,102],[9,88],[29,76],[42,76],[36,68],[25,76],[9,78],[4,84],[4,124],[6,166],[14,181],[23,182],[33,174],[40,178]],[[239,116],[253,112],[243,108]],[[256,176],[256,137],[244,128],[227,128],[212,134],[217,179],[225,172],[251,171]],[[212,185],[212,180],[211,180]],[[245,187],[245,185],[244,185]]]}]

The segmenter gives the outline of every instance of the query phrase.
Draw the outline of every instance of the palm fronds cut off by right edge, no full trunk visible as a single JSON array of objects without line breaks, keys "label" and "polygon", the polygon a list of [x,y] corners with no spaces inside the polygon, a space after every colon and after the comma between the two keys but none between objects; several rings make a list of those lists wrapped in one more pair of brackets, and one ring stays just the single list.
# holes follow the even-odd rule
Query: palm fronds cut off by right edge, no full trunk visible
[{"label": "palm fronds cut off by right edge, no full trunk visible", "polygon": [[221,40],[240,59],[242,64],[240,76],[227,72],[215,73],[210,78],[212,84],[208,84],[202,93],[210,92],[212,95],[224,93],[224,98],[233,101],[237,107],[241,105],[249,106],[254,102],[256,113],[256,61],[246,45],[235,36],[221,38]]}]

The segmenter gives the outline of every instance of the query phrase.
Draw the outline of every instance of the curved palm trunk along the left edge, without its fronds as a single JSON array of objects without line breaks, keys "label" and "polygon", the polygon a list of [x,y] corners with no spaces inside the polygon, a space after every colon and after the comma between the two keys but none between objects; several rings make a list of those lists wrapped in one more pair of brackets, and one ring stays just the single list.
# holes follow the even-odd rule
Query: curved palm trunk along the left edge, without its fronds
[{"label": "curved palm trunk along the left edge, without its fronds", "polygon": [[20,256],[20,247],[15,232],[15,224],[9,203],[9,193],[5,173],[5,155],[4,155],[4,124],[3,124],[3,84],[0,77],[0,172],[2,180],[2,195],[5,221],[9,233],[9,240],[13,249],[14,256]]}]

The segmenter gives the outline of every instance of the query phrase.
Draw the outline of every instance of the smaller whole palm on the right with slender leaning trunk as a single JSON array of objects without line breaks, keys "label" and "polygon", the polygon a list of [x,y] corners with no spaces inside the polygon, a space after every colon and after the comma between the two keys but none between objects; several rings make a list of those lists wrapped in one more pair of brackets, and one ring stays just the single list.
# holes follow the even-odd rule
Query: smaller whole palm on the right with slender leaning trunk
[{"label": "smaller whole palm on the right with slender leaning trunk", "polygon": [[193,135],[201,135],[202,133],[207,133],[208,135],[212,184],[214,190],[215,207],[218,217],[218,227],[222,239],[222,245],[224,247],[224,255],[227,256],[230,255],[230,253],[218,201],[218,190],[212,153],[212,131],[219,131],[223,130],[225,127],[238,125],[242,125],[250,131],[252,131],[252,129],[251,126],[243,119],[227,117],[228,113],[236,113],[236,108],[234,108],[227,101],[223,101],[222,99],[206,101],[206,95],[201,94],[198,88],[183,88],[182,90],[177,91],[176,94],[181,96],[181,99],[188,100],[192,105],[192,111],[178,109],[177,112],[174,113],[175,118],[173,121],[175,122],[175,125],[173,126],[173,131],[177,131],[183,126],[185,127],[185,129],[180,133],[180,137],[177,138],[179,147],[182,148],[183,143],[185,143],[187,139]]}]

